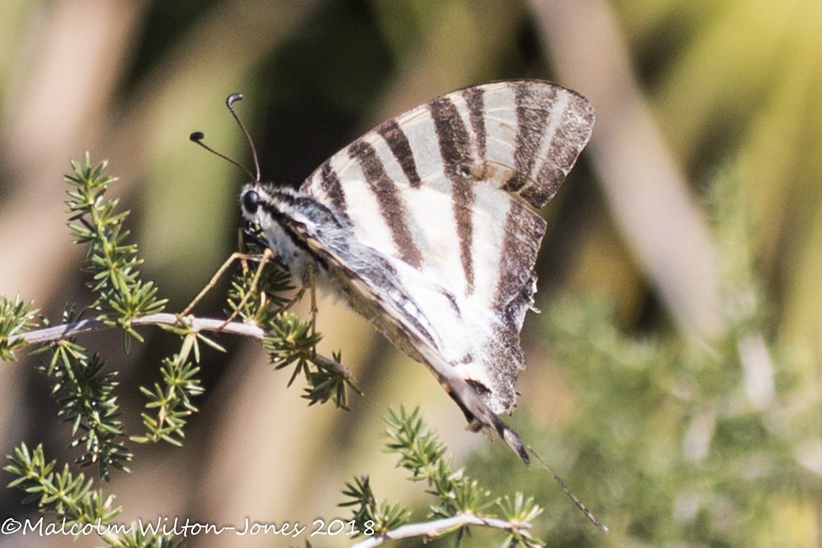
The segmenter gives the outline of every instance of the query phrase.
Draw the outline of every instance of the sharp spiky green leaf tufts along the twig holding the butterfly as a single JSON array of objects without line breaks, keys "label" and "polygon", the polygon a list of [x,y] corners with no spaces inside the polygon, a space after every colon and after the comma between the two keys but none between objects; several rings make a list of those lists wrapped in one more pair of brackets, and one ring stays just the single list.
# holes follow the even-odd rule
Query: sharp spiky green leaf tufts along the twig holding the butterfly
[{"label": "sharp spiky green leaf tufts along the twig holding the butterfly", "polygon": [[[141,279],[138,267],[142,260],[137,256],[137,246],[125,241],[128,231],[123,223],[127,212],[118,213],[117,200],[104,196],[116,181],[104,173],[105,166],[105,162],[93,166],[88,154],[84,163],[72,162],[74,174],[65,177],[72,187],[68,191],[68,226],[74,242],[87,246],[84,269],[91,275],[88,286],[96,295],[90,306],[90,311],[95,312],[94,321],[121,328],[127,349],[132,338],[143,340],[134,329],[134,321],[158,314],[166,299],[157,297],[154,283]],[[260,251],[259,246],[252,251]],[[285,311],[294,302],[285,297],[293,290],[289,275],[271,261],[264,261],[259,271],[249,269],[245,260],[242,266],[229,290],[229,319],[239,315],[266,332],[262,344],[270,352],[275,368],[294,365],[289,385],[302,372],[308,385],[306,398],[311,404],[333,400],[338,407],[345,408],[346,390],[353,383],[339,366],[339,355],[333,360],[318,357],[316,343],[321,335],[314,332],[311,322]],[[35,327],[31,320],[35,311],[20,297],[14,301],[3,297],[0,314],[0,352],[4,359],[13,359],[12,350],[27,343],[25,329]],[[72,307],[67,309],[62,318],[62,324],[70,326],[67,333],[72,332],[72,327],[81,329],[80,316]],[[131,439],[138,443],[164,440],[180,444],[188,417],[197,411],[192,400],[203,392],[200,368],[196,365],[200,362],[200,343],[220,352],[224,349],[192,329],[183,318],[178,317],[176,325],[162,325],[159,321],[158,325],[177,334],[182,347],[173,357],[163,360],[160,379],[151,389],[141,387],[148,398],[147,412],[142,414],[146,433]],[[125,470],[123,463],[132,458],[121,443],[125,432],[113,395],[116,373],[104,373],[102,358],[98,354],[88,356],[74,338],[54,335],[35,353],[47,350],[52,352],[52,359],[40,370],[55,380],[53,394],[60,405],[59,414],[64,421],[72,422],[72,435],[76,436],[72,445],[85,444],[85,453],[77,463],[99,463],[100,477],[109,479],[110,466]]]}]

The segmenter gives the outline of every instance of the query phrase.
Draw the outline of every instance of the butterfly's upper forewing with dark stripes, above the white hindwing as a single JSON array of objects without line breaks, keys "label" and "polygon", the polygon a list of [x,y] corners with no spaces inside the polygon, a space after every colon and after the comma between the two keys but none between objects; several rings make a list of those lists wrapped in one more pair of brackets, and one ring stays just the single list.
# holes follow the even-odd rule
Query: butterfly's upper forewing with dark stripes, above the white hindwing
[{"label": "butterfly's upper forewing with dark stripes, above the white hindwing", "polygon": [[559,85],[477,85],[383,122],[301,190],[347,219],[360,242],[499,310],[527,282],[544,232],[514,195],[545,205],[592,126],[589,102]]}]

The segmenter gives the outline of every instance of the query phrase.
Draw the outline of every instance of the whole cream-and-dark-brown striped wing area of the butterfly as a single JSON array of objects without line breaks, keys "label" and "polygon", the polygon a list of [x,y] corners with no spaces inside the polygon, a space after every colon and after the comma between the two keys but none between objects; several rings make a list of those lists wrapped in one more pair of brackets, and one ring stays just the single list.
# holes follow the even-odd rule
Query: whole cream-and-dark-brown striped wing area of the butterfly
[{"label": "whole cream-and-dark-brown striped wing area of the butterfly", "polygon": [[[394,273],[393,280],[355,283],[358,295],[349,302],[369,319],[389,316],[386,336],[427,363],[458,403],[468,396],[456,379],[493,412],[515,406],[524,367],[520,329],[533,305],[545,230],[529,205],[542,207],[554,195],[592,127],[589,102],[559,85],[473,86],[382,123],[300,189]],[[357,278],[356,267],[340,266]],[[355,302],[376,297],[385,310]],[[412,328],[424,334],[405,340],[402,332]]]}]

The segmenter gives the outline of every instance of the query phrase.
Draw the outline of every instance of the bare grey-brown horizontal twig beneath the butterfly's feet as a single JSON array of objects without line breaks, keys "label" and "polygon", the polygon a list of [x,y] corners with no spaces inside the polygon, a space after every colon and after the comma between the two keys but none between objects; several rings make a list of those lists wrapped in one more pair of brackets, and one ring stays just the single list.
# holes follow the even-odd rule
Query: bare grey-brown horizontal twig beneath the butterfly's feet
[{"label": "bare grey-brown horizontal twig beneath the butterfly's feet", "polygon": [[[183,319],[185,325],[192,331],[199,333],[201,331],[214,331],[219,333],[228,333],[233,335],[240,335],[242,337],[256,338],[262,340],[266,332],[257,325],[247,324],[242,321],[233,321],[228,324],[225,320],[218,320],[214,318],[198,318],[196,316],[188,315]],[[175,325],[181,327],[177,315],[169,314],[168,312],[158,312],[157,314],[144,315],[132,320],[132,325]],[[106,324],[103,320],[80,320],[70,324],[54,325],[44,329],[35,329],[24,334],[14,335],[9,338],[9,343],[14,343],[17,340],[23,339],[30,344],[48,343],[49,341],[58,340],[60,338],[73,337],[76,334],[87,333],[89,331],[100,331],[102,329],[111,329],[113,325]],[[338,361],[332,360],[329,357],[317,356],[317,361],[326,366],[331,371],[343,376],[345,379],[351,379],[351,371],[348,367],[342,365]]]}]

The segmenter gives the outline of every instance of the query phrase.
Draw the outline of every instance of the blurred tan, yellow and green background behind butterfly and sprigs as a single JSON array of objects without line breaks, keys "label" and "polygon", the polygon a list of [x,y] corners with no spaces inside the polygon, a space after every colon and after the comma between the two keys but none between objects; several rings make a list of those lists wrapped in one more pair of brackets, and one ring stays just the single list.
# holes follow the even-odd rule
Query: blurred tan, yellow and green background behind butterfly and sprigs
[{"label": "blurred tan, yellow and green background behind butterfly and sprigs", "polygon": [[[132,474],[104,486],[122,520],[330,520],[347,515],[335,505],[361,473],[423,518],[422,486],[381,450],[381,417],[404,403],[422,405],[469,474],[535,495],[550,546],[820,545],[818,0],[5,0],[2,12],[0,294],[53,321],[65,303],[91,301],[62,182],[85,150],[120,178],[111,192],[132,212],[145,278],[168,311],[235,249],[244,176],[187,140],[205,131],[250,163],[224,108],[231,92],[246,95],[264,178],[288,184],[377,122],[464,85],[546,78],[597,108],[589,148],[543,212],[543,314],[526,321],[529,368],[510,421],[609,536],[547,474],[465,432],[432,375],[333,298],[320,302],[321,351],[342,349],[365,392],[351,411],[307,408],[255,343],[220,337],[229,354],[204,356],[208,390],[184,447],[132,444]],[[220,315],[219,292],[200,315]],[[132,434],[137,386],[177,344],[141,332],[127,354],[114,332],[81,341],[119,372]],[[72,462],[40,358],[18,355],[0,366],[2,454],[42,441],[48,458]],[[21,495],[0,490],[0,518],[35,515]]]}]

